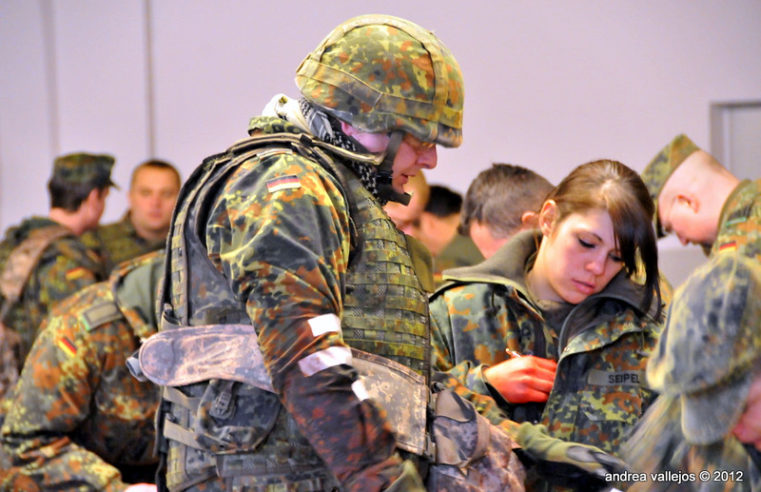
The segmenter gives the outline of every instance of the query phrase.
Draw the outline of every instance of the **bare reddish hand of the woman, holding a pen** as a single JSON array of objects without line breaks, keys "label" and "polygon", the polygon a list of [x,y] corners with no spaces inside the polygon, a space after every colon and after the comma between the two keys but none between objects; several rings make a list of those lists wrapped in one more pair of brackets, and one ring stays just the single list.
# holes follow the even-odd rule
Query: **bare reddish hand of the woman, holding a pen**
[{"label": "bare reddish hand of the woman, holding a pen", "polygon": [[484,377],[510,403],[545,402],[557,366],[554,360],[524,355],[484,369]]}]

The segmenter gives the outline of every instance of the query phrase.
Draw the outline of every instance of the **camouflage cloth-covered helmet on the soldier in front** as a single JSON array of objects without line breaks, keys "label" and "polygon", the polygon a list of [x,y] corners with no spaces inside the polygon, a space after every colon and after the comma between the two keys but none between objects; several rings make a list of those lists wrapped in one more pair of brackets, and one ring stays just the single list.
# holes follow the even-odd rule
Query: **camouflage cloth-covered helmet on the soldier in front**
[{"label": "camouflage cloth-covered helmet on the soldier in front", "polygon": [[308,101],[362,131],[462,142],[460,66],[435,34],[410,21],[349,19],[301,62],[296,84]]}]

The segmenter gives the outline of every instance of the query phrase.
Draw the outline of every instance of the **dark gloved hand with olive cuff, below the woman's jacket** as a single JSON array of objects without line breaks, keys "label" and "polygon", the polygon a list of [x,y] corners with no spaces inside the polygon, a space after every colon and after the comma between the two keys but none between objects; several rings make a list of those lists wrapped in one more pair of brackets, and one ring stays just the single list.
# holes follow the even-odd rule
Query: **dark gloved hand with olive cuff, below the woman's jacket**
[{"label": "dark gloved hand with olive cuff, below the woman's jacket", "polygon": [[516,441],[520,446],[516,454],[526,468],[552,484],[575,490],[610,490],[606,476],[628,470],[626,463],[599,448],[550,437],[542,425],[521,424]]}]

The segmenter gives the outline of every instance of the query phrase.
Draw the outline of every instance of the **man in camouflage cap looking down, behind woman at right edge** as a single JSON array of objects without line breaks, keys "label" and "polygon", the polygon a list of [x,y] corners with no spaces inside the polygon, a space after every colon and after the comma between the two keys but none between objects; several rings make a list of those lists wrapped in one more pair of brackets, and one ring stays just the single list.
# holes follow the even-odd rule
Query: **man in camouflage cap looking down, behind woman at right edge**
[{"label": "man in camouflage cap looking down, behind woman at right edge", "polygon": [[761,180],[740,180],[686,135],[642,173],[656,203],[659,237],[675,233],[707,255],[739,250],[761,260]]}]

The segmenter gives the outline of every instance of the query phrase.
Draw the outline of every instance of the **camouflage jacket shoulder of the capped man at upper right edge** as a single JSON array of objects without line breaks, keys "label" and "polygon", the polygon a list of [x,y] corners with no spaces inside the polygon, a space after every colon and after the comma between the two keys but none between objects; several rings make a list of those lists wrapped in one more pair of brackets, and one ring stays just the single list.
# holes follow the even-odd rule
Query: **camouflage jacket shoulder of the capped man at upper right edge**
[{"label": "camouflage jacket shoulder of the capped man at upper right edge", "polygon": [[761,179],[741,181],[724,203],[710,256],[732,251],[761,261]]}]

